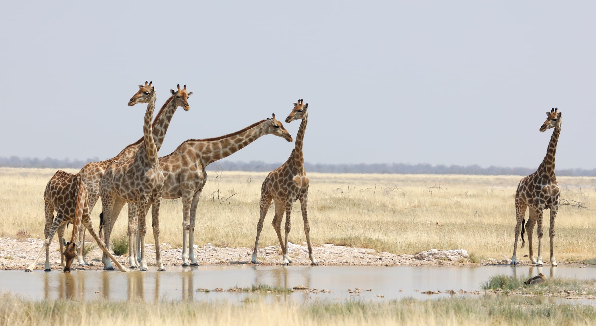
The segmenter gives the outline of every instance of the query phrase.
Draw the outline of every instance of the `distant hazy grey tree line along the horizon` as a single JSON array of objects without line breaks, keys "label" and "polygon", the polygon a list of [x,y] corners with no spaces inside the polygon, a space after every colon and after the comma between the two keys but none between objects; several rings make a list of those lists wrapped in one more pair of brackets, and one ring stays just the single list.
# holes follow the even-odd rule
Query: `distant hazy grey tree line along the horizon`
[{"label": "distant hazy grey tree line along the horizon", "polygon": [[[55,158],[10,158],[0,157],[0,167],[15,168],[82,168],[88,162],[97,162],[98,158],[88,158],[85,161]],[[220,161],[209,165],[207,170],[215,171],[221,168],[225,171],[254,171],[269,172],[279,167],[281,163],[265,163],[262,161],[232,162]],[[430,165],[403,163],[375,163],[375,164],[311,164],[305,162],[308,172],[321,173],[395,173],[395,174],[479,174],[479,175],[528,175],[536,168],[507,168],[480,167],[480,165]],[[596,169],[557,169],[557,175],[570,177],[596,177]]]}]

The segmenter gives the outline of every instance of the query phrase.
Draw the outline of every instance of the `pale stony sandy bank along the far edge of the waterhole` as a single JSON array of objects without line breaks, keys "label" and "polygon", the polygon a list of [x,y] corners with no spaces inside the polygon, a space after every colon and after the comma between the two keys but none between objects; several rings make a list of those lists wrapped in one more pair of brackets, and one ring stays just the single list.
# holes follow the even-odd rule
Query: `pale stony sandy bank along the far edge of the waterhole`
[{"label": "pale stony sandy bank along the far edge of the waterhole", "polygon": [[[0,269],[25,269],[38,255],[39,250],[42,249],[44,241],[42,239],[13,239],[11,237],[2,237],[0,239]],[[61,269],[60,255],[58,252],[58,243],[52,242],[50,245],[50,263],[52,269]],[[182,264],[182,249],[173,248],[168,243],[163,243],[162,259],[164,265],[181,265]],[[493,259],[489,258],[486,261],[480,261],[480,264],[474,264],[467,259],[458,259],[457,261],[449,261],[448,259],[436,259],[432,261],[425,261],[414,258],[414,255],[395,255],[388,252],[377,252],[374,249],[364,249],[355,247],[344,247],[336,245],[322,245],[320,247],[313,247],[315,258],[319,265],[344,265],[344,266],[470,266],[470,265],[496,265],[509,264],[511,261],[507,258]],[[147,254],[147,265],[155,266],[155,246],[145,245],[145,253]],[[290,258],[293,261],[292,265],[310,265],[311,261],[308,258],[308,249],[305,245],[296,245],[291,243],[289,245]],[[252,249],[247,247],[215,247],[207,244],[203,247],[195,245],[195,258],[197,258],[199,265],[241,265],[252,264],[250,258]],[[281,250],[279,246],[269,246],[259,249],[257,254],[257,261],[261,265],[280,265],[282,262]],[[103,264],[101,262],[92,261],[94,258],[101,258],[101,250],[95,248],[88,253],[86,259],[94,266],[87,266],[85,268],[101,269]],[[116,256],[121,264],[128,266],[127,256]],[[45,262],[45,253],[38,261],[36,269],[43,269]],[[528,262],[521,262],[522,265]],[[579,263],[563,263],[563,264],[579,264]],[[561,263],[560,263],[561,265]]]}]

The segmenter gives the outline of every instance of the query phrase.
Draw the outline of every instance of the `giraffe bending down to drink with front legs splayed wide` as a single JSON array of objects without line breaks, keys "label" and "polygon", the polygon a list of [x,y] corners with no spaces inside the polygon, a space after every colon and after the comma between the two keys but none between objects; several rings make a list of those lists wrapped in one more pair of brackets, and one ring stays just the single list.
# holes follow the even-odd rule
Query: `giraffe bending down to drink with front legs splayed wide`
[{"label": "giraffe bending down to drink with front legs splayed wide", "polygon": [[[80,224],[85,225],[91,236],[94,237],[95,241],[97,241],[97,245],[100,247],[100,249],[103,250],[103,252],[114,261],[114,264],[116,264],[120,271],[128,272],[129,269],[120,265],[116,258],[114,258],[114,256],[108,251],[107,247],[100,239],[98,234],[95,233],[93,225],[91,224],[91,217],[89,216],[89,192],[80,175],[59,170],[54,177],[49,180],[46,191],[48,191],[48,189],[49,191],[52,191],[54,188],[60,189],[60,192],[67,196],[48,197],[50,200],[45,202],[46,214],[54,214],[55,209],[57,211],[57,215],[54,219],[54,222],[52,222],[51,228],[46,228],[45,230],[46,239],[44,241],[44,246],[41,250],[39,250],[39,254],[37,258],[35,258],[35,261],[29,264],[29,267],[27,267],[25,271],[30,272],[35,269],[35,265],[39,261],[42,253],[44,253],[44,250],[46,251],[46,255],[48,254],[49,244],[52,242],[52,238],[54,237],[54,233],[58,227],[66,223],[72,223],[75,226],[73,227],[73,236],[71,241],[69,243],[64,242],[64,239],[61,239],[60,241],[60,254],[61,256],[66,256],[64,272],[70,272],[70,263],[73,261],[73,258],[76,255],[77,246],[80,246],[80,242],[75,243],[77,225]],[[72,202],[72,199],[75,199],[75,201]],[[63,246],[66,247],[66,250],[63,250]],[[49,262],[47,258],[45,268],[46,270],[49,269]]]}]

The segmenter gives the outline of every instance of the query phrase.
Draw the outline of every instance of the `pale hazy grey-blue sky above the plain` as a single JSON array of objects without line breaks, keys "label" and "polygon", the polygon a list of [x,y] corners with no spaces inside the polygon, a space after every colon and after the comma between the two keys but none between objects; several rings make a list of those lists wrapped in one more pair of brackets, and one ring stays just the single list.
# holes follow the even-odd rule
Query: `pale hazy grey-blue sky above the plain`
[{"label": "pale hazy grey-blue sky above the plain", "polygon": [[[187,84],[160,156],[309,102],[305,159],[596,168],[596,2],[4,1],[0,156],[107,159]],[[157,109],[156,109],[157,111]],[[296,134],[299,121],[284,123]],[[283,162],[265,136],[232,161]]]}]

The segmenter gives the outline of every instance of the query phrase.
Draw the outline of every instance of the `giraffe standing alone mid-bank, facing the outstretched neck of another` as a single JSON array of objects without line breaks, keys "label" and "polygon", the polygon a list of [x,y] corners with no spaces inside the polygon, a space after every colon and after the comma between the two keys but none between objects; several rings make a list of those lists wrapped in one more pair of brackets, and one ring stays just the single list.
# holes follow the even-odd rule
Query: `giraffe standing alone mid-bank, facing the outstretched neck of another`
[{"label": "giraffe standing alone mid-bank, facing the outstretched neck of another", "polygon": [[[272,200],[275,202],[275,217],[271,224],[275,228],[277,237],[280,240],[281,251],[284,254],[283,265],[291,264],[290,256],[288,256],[288,233],[290,233],[291,226],[290,213],[294,201],[300,200],[300,209],[302,210],[302,219],[304,221],[304,232],[306,234],[306,244],[308,245],[308,256],[311,259],[311,265],[319,265],[315,256],[312,254],[311,226],[308,224],[308,216],[306,214],[309,179],[304,170],[302,143],[304,140],[306,123],[308,123],[308,111],[306,111],[306,109],[308,109],[308,103],[303,103],[303,99],[299,99],[297,103],[294,103],[294,109],[292,109],[290,115],[285,118],[285,122],[287,123],[302,119],[290,158],[288,158],[281,167],[271,171],[265,178],[265,181],[263,181],[261,187],[260,218],[259,223],[257,224],[257,237],[256,240],[254,240],[254,251],[251,259],[253,264],[256,264],[257,262],[260,231],[263,229],[263,221],[265,220],[265,215],[267,214]],[[285,241],[282,241],[281,218],[284,216],[284,211]]]}]

